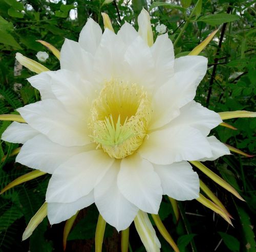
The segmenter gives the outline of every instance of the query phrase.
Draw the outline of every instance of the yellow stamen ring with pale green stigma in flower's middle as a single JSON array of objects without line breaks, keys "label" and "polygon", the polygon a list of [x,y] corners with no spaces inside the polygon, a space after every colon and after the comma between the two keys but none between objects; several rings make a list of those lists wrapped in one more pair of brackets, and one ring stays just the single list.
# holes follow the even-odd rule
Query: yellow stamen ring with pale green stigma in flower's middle
[{"label": "yellow stamen ring with pale green stigma in flower's middle", "polygon": [[151,114],[143,87],[112,79],[92,103],[90,136],[111,157],[123,158],[142,144]]}]

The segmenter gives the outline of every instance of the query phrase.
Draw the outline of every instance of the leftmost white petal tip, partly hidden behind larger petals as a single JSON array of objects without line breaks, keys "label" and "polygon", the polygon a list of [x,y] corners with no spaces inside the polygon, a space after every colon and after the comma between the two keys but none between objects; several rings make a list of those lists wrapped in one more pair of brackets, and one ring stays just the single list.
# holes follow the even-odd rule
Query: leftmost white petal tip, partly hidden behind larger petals
[{"label": "leftmost white petal tip, partly hidden behind larger petals", "polygon": [[27,123],[13,122],[4,131],[1,139],[9,143],[24,144],[37,134],[39,134],[39,132],[31,128]]}]

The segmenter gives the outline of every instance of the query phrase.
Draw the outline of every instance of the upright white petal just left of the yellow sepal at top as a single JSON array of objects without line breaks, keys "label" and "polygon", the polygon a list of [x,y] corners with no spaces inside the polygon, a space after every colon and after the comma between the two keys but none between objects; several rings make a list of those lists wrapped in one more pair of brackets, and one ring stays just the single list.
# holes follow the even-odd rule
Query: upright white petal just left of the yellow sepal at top
[{"label": "upright white petal just left of the yellow sepal at top", "polygon": [[92,18],[89,18],[80,32],[78,42],[84,50],[95,54],[100,43],[101,35],[102,30],[100,26]]}]

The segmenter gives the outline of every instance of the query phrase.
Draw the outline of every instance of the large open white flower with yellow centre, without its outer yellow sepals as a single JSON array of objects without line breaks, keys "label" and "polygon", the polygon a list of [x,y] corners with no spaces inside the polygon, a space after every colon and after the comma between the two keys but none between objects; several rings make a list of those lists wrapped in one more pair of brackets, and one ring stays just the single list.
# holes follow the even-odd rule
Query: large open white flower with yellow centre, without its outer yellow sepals
[{"label": "large open white flower with yellow centre, without its outer yellow sepals", "polygon": [[222,122],[219,114],[193,100],[207,59],[175,59],[168,35],[154,42],[143,15],[140,33],[125,23],[117,34],[102,34],[90,18],[78,42],[62,45],[60,70],[28,79],[42,100],[17,109],[27,124],[13,122],[2,135],[24,144],[16,162],[52,174],[51,224],[95,202],[124,230],[139,210],[157,214],[162,195],[199,197],[187,161],[229,153],[207,136]]}]

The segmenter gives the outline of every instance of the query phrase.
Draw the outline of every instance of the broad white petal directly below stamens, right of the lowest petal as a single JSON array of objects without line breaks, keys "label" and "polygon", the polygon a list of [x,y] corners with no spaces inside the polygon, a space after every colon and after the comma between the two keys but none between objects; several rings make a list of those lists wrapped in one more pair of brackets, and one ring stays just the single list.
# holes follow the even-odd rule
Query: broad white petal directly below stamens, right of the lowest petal
[{"label": "broad white petal directly below stamens, right of the lowest petal", "polygon": [[123,158],[117,185],[124,197],[136,207],[147,213],[158,213],[162,188],[150,162],[136,154]]}]

